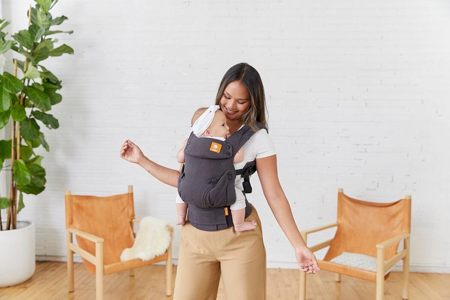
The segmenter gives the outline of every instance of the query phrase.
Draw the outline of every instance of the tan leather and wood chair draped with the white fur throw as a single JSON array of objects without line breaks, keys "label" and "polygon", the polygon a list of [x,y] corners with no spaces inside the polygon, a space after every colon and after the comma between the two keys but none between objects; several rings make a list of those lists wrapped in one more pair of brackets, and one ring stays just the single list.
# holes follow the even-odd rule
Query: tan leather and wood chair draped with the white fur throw
[{"label": "tan leather and wood chair draped with the white fur throw", "polygon": [[[133,245],[134,217],[133,187],[128,192],[111,196],[72,195],[65,191],[65,227],[67,234],[67,276],[68,291],[73,291],[73,253],[78,253],[89,272],[95,274],[96,299],[103,299],[103,275],[166,261],[166,294],[172,294],[172,253],[171,242],[166,252],[153,259],[140,258],[120,261],[124,248]],[[173,228],[167,226],[172,238]],[[76,235],[78,246],[72,243],[72,233]]]}]

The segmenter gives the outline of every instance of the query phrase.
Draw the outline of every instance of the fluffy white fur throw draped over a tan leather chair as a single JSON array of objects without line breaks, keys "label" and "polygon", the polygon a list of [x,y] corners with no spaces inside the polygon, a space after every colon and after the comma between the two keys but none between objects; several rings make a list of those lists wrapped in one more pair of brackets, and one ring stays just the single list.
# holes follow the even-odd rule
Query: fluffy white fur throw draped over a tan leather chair
[{"label": "fluffy white fur throw draped over a tan leather chair", "polygon": [[125,248],[120,254],[120,260],[140,258],[149,260],[163,254],[170,244],[170,233],[166,226],[168,222],[151,216],[143,217],[139,222],[139,231],[131,248]]}]

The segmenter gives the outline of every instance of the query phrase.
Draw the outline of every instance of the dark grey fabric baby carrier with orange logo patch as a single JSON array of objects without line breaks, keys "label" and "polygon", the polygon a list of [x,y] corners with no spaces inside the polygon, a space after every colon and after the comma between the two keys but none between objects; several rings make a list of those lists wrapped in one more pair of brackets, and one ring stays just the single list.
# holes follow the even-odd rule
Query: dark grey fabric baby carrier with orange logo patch
[{"label": "dark grey fabric baby carrier with orange logo patch", "polygon": [[[267,127],[256,123],[259,129]],[[184,164],[178,177],[178,194],[188,204],[187,219],[202,230],[214,231],[233,226],[229,205],[236,200],[234,179],[244,178],[243,194],[251,192],[249,175],[256,171],[256,161],[235,170],[233,157],[255,133],[244,125],[226,140],[197,137],[190,133],[184,148]],[[267,131],[268,132],[268,131]],[[245,217],[251,206],[245,199]]]}]

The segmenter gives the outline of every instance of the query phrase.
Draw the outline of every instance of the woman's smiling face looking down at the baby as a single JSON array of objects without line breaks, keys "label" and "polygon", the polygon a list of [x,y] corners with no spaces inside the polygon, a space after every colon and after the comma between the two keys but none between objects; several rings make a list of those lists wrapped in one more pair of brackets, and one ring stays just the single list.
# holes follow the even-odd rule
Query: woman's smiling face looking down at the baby
[{"label": "woman's smiling face looking down at the baby", "polygon": [[251,100],[247,88],[238,80],[226,85],[220,98],[220,109],[227,120],[238,120],[250,107]]}]

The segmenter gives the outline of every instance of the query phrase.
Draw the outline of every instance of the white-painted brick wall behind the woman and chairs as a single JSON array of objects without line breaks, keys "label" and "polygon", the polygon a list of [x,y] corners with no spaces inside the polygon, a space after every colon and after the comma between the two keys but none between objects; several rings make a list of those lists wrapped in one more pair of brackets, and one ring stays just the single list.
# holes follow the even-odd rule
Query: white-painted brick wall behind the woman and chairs
[{"label": "white-painted brick wall behind the woman and chairs", "polygon": [[[10,33],[26,26],[29,3],[2,1]],[[45,62],[63,80],[51,111],[60,127],[43,128],[46,189],[25,195],[19,214],[36,222],[39,259],[65,259],[65,189],[108,195],[133,184],[138,217],[174,224],[175,188],[122,160],[119,147],[130,138],[177,168],[191,113],[246,61],[264,83],[278,174],[299,227],[335,220],[338,187],[373,201],[411,194],[411,269],[450,271],[448,1],[61,0],[52,14],[69,18],[61,29],[74,33],[58,39],[75,54]],[[252,184],[268,266],[295,267],[256,175]],[[176,227],[175,257],[178,245]]]}]

